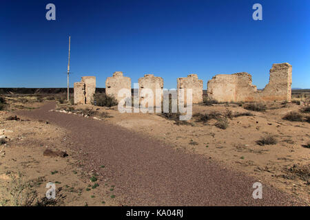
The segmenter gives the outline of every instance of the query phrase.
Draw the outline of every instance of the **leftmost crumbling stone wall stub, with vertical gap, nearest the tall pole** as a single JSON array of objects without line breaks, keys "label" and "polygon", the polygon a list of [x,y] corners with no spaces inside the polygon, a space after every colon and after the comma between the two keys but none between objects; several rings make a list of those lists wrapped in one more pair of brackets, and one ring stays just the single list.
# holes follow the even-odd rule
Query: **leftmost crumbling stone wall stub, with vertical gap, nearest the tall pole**
[{"label": "leftmost crumbling stone wall stub, with vertical gap, nearest the tall pole", "polygon": [[83,76],[81,82],[74,83],[74,104],[93,104],[96,92],[96,77]]}]

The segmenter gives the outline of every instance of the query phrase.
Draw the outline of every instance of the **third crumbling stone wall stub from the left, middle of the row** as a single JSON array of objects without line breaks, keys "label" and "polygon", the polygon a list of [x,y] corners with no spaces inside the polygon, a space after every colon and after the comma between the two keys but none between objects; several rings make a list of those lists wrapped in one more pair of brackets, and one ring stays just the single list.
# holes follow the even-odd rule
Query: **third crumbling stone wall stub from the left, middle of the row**
[{"label": "third crumbling stone wall stub from the left, middle of the row", "polygon": [[[140,103],[145,100],[145,98],[149,98],[150,94],[145,94],[147,90],[151,89],[154,97],[154,107],[160,107],[161,102],[163,101],[163,78],[154,76],[153,74],[145,74],[144,77],[138,79],[139,84],[139,100]],[[144,91],[143,91],[144,89]],[[156,89],[157,94],[156,94]],[[158,105],[156,105],[156,103]],[[149,103],[146,104],[145,107],[148,107]]]}]

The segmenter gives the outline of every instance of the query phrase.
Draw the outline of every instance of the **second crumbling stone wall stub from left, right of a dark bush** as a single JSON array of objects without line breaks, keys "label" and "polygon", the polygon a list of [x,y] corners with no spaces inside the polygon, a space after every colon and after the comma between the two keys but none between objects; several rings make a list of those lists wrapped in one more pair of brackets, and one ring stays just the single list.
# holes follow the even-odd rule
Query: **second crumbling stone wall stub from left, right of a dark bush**
[{"label": "second crumbling stone wall stub from left, right of a dark bush", "polygon": [[105,94],[114,96],[118,102],[123,99],[123,96],[118,97],[118,91],[121,89],[132,89],[132,80],[129,77],[123,76],[123,72],[114,72],[112,77],[107,77],[105,80]]}]

